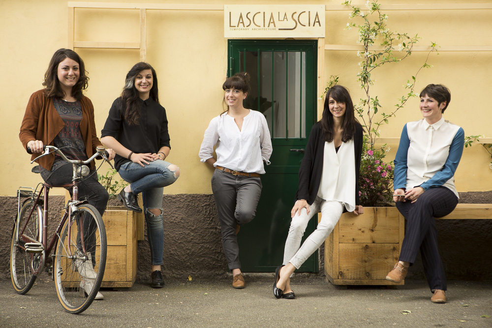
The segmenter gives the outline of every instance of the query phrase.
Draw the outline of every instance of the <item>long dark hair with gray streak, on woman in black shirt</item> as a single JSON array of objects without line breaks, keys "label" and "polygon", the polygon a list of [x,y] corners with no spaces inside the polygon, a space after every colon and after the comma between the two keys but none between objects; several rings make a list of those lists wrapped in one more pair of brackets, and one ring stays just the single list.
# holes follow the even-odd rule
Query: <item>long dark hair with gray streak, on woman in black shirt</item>
[{"label": "long dark hair with gray streak, on woman in black shirt", "polygon": [[159,88],[157,87],[157,74],[155,73],[154,67],[142,61],[136,63],[126,74],[122,92],[123,117],[130,125],[137,125],[140,119],[141,103],[139,101],[138,91],[135,88],[135,78],[144,69],[150,69],[152,71],[152,89],[150,90],[149,97],[156,103],[159,103]]}]

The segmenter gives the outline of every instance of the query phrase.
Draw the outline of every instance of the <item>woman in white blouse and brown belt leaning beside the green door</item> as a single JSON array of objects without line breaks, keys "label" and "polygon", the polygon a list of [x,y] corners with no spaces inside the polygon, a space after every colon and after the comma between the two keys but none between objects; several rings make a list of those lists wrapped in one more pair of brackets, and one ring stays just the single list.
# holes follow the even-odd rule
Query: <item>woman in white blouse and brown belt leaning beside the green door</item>
[{"label": "woman in white blouse and brown belt leaning beside the green door", "polygon": [[215,167],[212,191],[227,265],[233,274],[232,287],[237,289],[245,288],[237,233],[255,216],[260,175],[265,174],[263,163],[270,164],[272,154],[267,120],[260,112],[243,107],[248,78],[246,73],[237,73],[222,85],[227,110],[210,121],[199,152],[202,163]]}]

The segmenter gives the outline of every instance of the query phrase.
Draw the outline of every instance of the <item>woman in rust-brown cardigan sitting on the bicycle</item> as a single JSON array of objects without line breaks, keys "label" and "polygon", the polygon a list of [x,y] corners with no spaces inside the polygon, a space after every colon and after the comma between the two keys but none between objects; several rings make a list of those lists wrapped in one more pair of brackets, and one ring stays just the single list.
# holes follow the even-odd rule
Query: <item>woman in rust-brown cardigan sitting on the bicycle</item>
[{"label": "woman in rust-brown cardigan sitting on the bicycle", "polygon": [[[44,145],[63,148],[70,159],[87,160],[102,146],[97,138],[94,108],[89,98],[82,94],[88,86],[87,72],[84,61],[74,51],[59,49],[51,58],[48,70],[44,75],[44,89],[31,95],[22,120],[19,138],[24,146],[32,151],[31,159],[43,151]],[[114,158],[113,149],[107,149],[109,159]],[[40,174],[46,183],[53,186],[71,184],[73,169],[60,155],[50,154],[37,160]],[[97,181],[91,163],[91,174],[78,183],[79,198],[85,198],[101,214],[108,204],[109,195]],[[72,189],[67,188],[72,195]],[[86,229],[86,227],[84,228]],[[80,245],[78,245],[81,248]],[[80,287],[89,293],[92,280],[96,273],[85,261],[77,270],[84,278]],[[102,299],[97,293],[95,299]]]}]

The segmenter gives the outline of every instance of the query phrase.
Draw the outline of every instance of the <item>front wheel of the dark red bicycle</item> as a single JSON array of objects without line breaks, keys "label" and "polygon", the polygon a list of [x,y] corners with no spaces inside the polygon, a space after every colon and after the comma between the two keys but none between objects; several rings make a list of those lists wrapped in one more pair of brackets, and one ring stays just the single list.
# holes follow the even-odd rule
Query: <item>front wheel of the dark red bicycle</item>
[{"label": "front wheel of the dark red bicycle", "polygon": [[92,205],[79,206],[63,224],[55,249],[57,294],[67,312],[82,313],[91,305],[101,286],[106,253],[101,215]]}]

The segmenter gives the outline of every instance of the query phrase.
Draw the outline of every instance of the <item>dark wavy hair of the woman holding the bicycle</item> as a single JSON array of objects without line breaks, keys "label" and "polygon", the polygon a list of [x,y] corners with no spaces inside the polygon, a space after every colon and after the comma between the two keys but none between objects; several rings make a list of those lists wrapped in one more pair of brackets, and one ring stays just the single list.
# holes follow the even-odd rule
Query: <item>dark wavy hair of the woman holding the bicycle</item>
[{"label": "dark wavy hair of the woman holding the bicycle", "polygon": [[79,80],[75,86],[73,86],[71,96],[80,100],[83,95],[82,90],[87,89],[87,86],[89,85],[89,77],[87,76],[84,60],[82,60],[75,51],[70,49],[58,49],[55,54],[53,54],[48,69],[46,70],[46,73],[44,73],[43,86],[46,87],[44,89],[44,94],[47,97],[60,99],[63,99],[67,95],[63,91],[62,86],[60,86],[60,81],[58,80],[58,65],[65,60],[65,58],[75,60],[79,64]]}]

